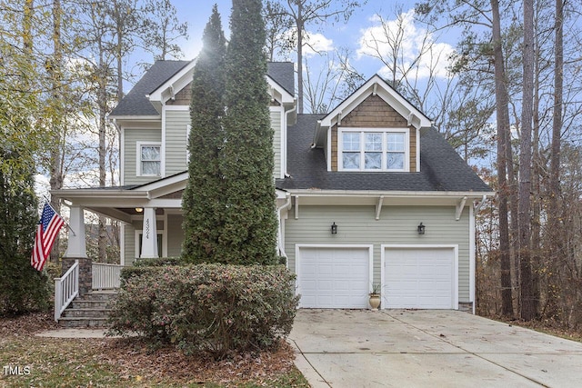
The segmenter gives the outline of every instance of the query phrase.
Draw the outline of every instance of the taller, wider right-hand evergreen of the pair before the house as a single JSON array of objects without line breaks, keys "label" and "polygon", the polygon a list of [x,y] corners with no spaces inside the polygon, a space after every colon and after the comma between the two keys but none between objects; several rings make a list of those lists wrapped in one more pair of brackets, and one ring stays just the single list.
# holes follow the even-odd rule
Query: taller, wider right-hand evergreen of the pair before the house
[{"label": "taller, wider right-hand evergreen of the pair before the house", "polygon": [[226,52],[225,224],[227,260],[276,263],[273,130],[266,85],[265,24],[261,0],[233,0]]}]

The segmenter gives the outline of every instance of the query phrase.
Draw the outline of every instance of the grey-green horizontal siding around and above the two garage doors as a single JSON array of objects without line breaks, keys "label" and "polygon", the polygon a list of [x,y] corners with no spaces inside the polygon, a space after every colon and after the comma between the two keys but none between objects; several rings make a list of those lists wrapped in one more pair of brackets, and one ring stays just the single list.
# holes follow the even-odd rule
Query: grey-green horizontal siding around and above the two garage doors
[{"label": "grey-green horizontal siding around and above the two garage doors", "polygon": [[[285,220],[286,255],[295,271],[296,244],[374,244],[374,281],[380,282],[382,244],[457,244],[459,302],[469,301],[469,211],[459,221],[455,206],[384,206],[376,221],[375,206],[299,205]],[[330,225],[337,224],[337,234]],[[416,226],[426,225],[419,235]]]}]

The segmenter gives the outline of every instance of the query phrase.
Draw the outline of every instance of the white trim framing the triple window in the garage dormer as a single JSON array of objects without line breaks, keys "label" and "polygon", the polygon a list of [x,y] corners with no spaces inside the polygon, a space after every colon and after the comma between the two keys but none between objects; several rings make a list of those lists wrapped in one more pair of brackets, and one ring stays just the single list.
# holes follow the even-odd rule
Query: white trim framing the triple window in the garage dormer
[{"label": "white trim framing the triple window in the garage dormer", "polygon": [[[346,133],[357,133],[360,134],[360,168],[359,169],[347,169],[344,168],[344,134]],[[365,140],[364,134],[375,133],[382,134],[382,168],[377,169],[366,169],[365,166]],[[386,166],[386,134],[389,133],[401,133],[404,134],[404,169],[387,169]],[[337,171],[346,172],[410,172],[410,130],[409,128],[351,128],[344,127],[337,131]]]}]

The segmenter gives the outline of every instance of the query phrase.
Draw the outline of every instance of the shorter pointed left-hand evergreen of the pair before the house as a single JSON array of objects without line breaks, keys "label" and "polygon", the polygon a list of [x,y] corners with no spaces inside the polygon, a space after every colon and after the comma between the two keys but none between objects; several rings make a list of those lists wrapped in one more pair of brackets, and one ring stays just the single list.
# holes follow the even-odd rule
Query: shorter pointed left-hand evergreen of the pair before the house
[{"label": "shorter pointed left-hand evergreen of the pair before the house", "polygon": [[218,164],[225,135],[221,120],[225,114],[224,61],[226,38],[216,5],[202,37],[192,80],[188,140],[188,182],[182,196],[185,240],[183,253],[188,260],[221,262],[219,239],[224,203],[223,174]]}]

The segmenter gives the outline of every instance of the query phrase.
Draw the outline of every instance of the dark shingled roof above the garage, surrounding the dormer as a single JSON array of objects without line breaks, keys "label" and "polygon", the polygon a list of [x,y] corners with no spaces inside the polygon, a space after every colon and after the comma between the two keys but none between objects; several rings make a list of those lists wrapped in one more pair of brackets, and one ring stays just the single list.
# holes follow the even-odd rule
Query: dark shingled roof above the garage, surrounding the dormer
[{"label": "dark shingled roof above the garage, surrounding the dormer", "polygon": [[287,131],[287,172],[277,179],[283,190],[369,190],[416,192],[487,192],[485,184],[434,128],[420,132],[420,173],[329,172],[320,148],[311,148],[317,120],[323,114],[297,114]]}]

